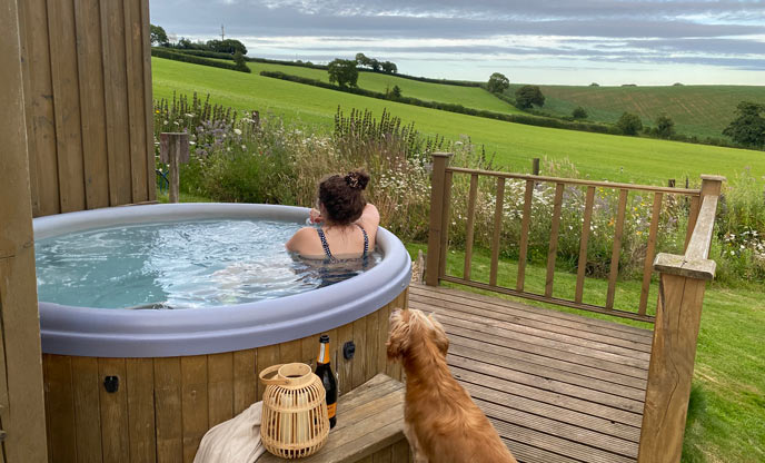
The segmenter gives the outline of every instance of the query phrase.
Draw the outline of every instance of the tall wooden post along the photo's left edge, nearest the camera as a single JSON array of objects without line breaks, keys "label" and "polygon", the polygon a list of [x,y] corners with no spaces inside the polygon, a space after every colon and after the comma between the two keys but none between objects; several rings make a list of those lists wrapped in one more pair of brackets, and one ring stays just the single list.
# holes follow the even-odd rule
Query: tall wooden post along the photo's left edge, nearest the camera
[{"label": "tall wooden post along the photo's left edge, nearest the camera", "polygon": [[48,461],[17,0],[0,7],[0,461]]}]

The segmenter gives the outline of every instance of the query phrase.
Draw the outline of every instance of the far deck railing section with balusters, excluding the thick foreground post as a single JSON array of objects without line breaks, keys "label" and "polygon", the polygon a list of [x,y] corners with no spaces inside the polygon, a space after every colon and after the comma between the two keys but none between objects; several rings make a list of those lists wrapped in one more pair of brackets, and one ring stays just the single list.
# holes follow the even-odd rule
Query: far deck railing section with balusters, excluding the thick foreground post
[{"label": "far deck railing section with balusters, excluding the thick foreground post", "polygon": [[[689,199],[689,216],[688,229],[686,233],[686,247],[691,242],[693,229],[696,225],[699,210],[699,197],[702,190],[707,188],[708,183],[718,180],[704,179],[702,190],[687,188],[670,188],[670,187],[655,187],[632,184],[617,184],[609,181],[590,181],[570,178],[545,177],[523,174],[508,174],[499,171],[474,170],[458,167],[449,167],[449,154],[437,152],[434,154],[433,165],[433,190],[430,201],[430,227],[428,240],[428,260],[426,283],[431,286],[438,285],[439,280],[458,283],[467,286],[477,287],[480,289],[494,290],[497,293],[508,294],[518,297],[525,297],[531,301],[580,308],[590,312],[616,315],[625,318],[638,319],[644,322],[653,322],[654,317],[646,313],[648,305],[648,296],[650,290],[650,280],[654,272],[653,262],[656,253],[657,233],[659,226],[659,216],[662,205],[665,197],[668,195],[687,197]],[[450,204],[451,204],[451,184],[455,175],[470,176],[470,187],[467,200],[467,223],[466,223],[466,245],[465,245],[465,264],[463,276],[449,275],[446,272],[446,255],[448,244],[448,225],[450,221]],[[479,177],[496,178],[496,203],[494,211],[494,230],[490,240],[490,268],[488,284],[476,282],[471,278],[471,260],[474,247],[474,229],[476,219],[476,197],[478,191]],[[518,248],[518,272],[514,286],[503,286],[498,284],[498,268],[499,268],[499,252],[500,252],[500,235],[504,216],[504,200],[506,180],[524,180],[525,195],[523,216],[520,223],[520,236]],[[547,253],[547,274],[545,280],[544,293],[533,293],[526,289],[526,264],[528,256],[529,243],[529,224],[534,219],[531,217],[531,201],[537,184],[555,185],[555,198],[553,201],[553,217],[549,237],[549,247]],[[566,299],[553,296],[553,288],[555,283],[555,266],[558,252],[558,239],[560,234],[560,216],[562,205],[564,198],[564,189],[566,186],[586,187],[585,206],[584,206],[584,221],[582,224],[582,236],[579,243],[579,255],[576,274],[576,289],[573,299]],[[587,245],[590,236],[590,225],[593,220],[593,208],[595,204],[596,188],[607,188],[618,191],[618,207],[614,220],[614,240],[612,247],[610,268],[608,273],[608,289],[606,293],[606,301],[604,305],[595,305],[583,302],[585,275],[587,269]],[[718,188],[719,189],[719,188]],[[645,265],[643,272],[643,284],[640,287],[640,299],[638,306],[634,312],[617,309],[614,307],[614,299],[616,294],[616,282],[619,272],[619,255],[622,252],[622,240],[625,226],[625,211],[627,208],[627,197],[629,191],[640,191],[653,196],[653,208],[650,226],[648,227],[648,239],[645,252]]]}]

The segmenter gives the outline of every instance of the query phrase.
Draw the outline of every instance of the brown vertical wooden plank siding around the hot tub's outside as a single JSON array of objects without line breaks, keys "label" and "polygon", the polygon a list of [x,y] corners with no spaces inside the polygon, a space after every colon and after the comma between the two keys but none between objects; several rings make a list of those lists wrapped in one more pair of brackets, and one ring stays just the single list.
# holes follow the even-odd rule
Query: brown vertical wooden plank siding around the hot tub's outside
[{"label": "brown vertical wooden plank siding around the hot tub's outside", "polygon": [[[377,373],[400,380],[388,363],[388,318],[407,305],[403,292],[365,317],[326,332],[342,394]],[[257,375],[290,362],[311,362],[319,334],[220,354],[169,358],[93,358],[43,355],[51,462],[191,462],[205,433],[260,400]],[[356,353],[345,358],[342,345]],[[119,387],[107,392],[106,376]],[[342,410],[338,411],[342,420]]]}]

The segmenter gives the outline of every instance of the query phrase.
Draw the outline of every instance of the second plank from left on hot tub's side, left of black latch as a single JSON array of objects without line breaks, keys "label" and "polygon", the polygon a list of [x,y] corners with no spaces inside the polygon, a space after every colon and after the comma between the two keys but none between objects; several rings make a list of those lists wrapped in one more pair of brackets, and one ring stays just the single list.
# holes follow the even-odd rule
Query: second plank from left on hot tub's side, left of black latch
[{"label": "second plank from left on hot tub's side, left of black latch", "polygon": [[[98,361],[92,357],[70,357],[74,396],[74,427],[77,430],[77,461],[101,461],[101,412]],[[152,423],[153,425],[153,423]],[[52,434],[53,430],[49,430]],[[57,430],[58,432],[58,430]]]}]

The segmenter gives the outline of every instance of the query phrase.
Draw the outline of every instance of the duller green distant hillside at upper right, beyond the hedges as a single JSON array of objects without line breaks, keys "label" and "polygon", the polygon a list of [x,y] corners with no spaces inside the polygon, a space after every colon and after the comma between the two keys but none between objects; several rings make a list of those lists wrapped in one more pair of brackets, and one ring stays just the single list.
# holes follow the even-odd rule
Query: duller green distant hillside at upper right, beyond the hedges
[{"label": "duller green distant hillside at upper right, beyond the hedges", "polygon": [[[510,86],[513,96],[518,85]],[[672,87],[570,87],[539,86],[545,95],[543,110],[570,116],[582,106],[589,120],[615,122],[624,111],[634,112],[644,125],[655,126],[665,112],[678,134],[701,138],[723,137],[739,101],[765,104],[765,86],[672,86]]]}]

